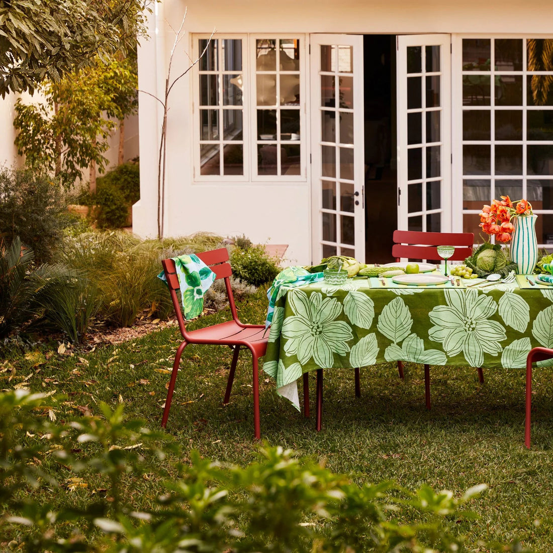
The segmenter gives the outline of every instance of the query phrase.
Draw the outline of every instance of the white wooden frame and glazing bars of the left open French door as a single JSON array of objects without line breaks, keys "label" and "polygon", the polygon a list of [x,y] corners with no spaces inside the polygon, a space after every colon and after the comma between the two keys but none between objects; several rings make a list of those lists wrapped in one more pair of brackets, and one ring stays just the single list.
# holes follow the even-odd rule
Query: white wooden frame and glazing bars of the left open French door
[{"label": "white wooden frame and glazing bars of the left open French door", "polygon": [[[321,46],[322,45],[335,45],[335,46],[352,46],[353,48],[353,62],[351,67],[351,73],[344,76],[353,77],[353,108],[348,109],[342,106],[335,106],[337,109],[344,113],[353,113],[353,148],[351,144],[346,144],[346,149],[353,149],[353,179],[340,178],[340,163],[339,156],[337,154],[336,159],[336,178],[323,178],[322,170],[322,147],[327,145],[332,147],[335,143],[324,142],[322,140],[322,113],[325,111],[321,107]],[[341,249],[347,249],[348,246],[341,241],[341,225],[340,218],[341,212],[344,217],[351,216],[351,212],[340,210],[340,198],[338,190],[340,182],[345,181],[348,188],[353,186],[356,196],[353,197],[354,208],[354,257],[364,261],[365,257],[365,210],[364,210],[364,130],[363,130],[363,113],[364,113],[364,99],[363,99],[363,36],[362,35],[346,35],[346,34],[311,34],[310,35],[310,90],[311,90],[311,102],[310,102],[310,119],[311,119],[311,228],[312,228],[312,246],[311,256],[312,263],[319,263],[320,259],[324,257],[323,243],[332,247],[332,243],[329,241],[323,242],[323,228],[322,217],[323,213],[330,213],[330,217],[335,215],[336,219],[336,246],[337,251],[340,253]],[[337,67],[335,67],[336,76],[338,76]],[[323,74],[330,74],[330,71],[325,71]],[[338,114],[338,112],[337,112]],[[339,120],[339,116],[338,119]],[[339,126],[338,126],[339,127]],[[339,140],[339,128],[336,129],[338,134],[337,140]],[[340,148],[336,147],[337,152]],[[335,210],[324,209],[322,207],[322,181],[335,181],[336,182],[336,205]],[[357,202],[357,203],[355,203]],[[352,248],[352,246],[349,246]]]}]

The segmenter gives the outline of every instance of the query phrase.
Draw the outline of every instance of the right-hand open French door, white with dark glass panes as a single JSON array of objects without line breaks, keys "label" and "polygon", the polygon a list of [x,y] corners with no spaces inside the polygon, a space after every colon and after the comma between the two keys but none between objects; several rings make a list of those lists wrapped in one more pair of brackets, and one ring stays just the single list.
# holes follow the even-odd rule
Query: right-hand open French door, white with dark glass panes
[{"label": "right-hand open French door, white with dark glass panes", "polygon": [[451,36],[397,37],[398,228],[451,231]]}]

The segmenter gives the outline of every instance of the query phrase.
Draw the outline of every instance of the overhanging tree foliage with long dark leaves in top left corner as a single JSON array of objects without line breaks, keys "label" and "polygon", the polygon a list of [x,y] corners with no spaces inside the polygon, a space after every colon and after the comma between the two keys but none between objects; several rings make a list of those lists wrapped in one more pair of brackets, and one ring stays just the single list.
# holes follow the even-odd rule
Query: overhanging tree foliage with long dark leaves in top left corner
[{"label": "overhanging tree foliage with long dark leaves in top left corner", "polygon": [[0,0],[0,95],[127,55],[145,36],[151,0]]}]

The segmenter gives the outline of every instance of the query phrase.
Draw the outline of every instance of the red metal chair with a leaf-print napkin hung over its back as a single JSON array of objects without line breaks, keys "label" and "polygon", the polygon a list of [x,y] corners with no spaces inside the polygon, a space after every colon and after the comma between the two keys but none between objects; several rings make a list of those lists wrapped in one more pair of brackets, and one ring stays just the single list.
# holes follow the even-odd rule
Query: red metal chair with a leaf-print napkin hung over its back
[{"label": "red metal chair with a leaf-print napkin hung over its back", "polygon": [[[236,305],[234,304],[234,297],[232,295],[232,288],[230,283],[230,276],[232,275],[231,265],[228,263],[228,251],[226,248],[215,249],[210,252],[199,253],[197,256],[217,275],[216,278],[224,278],[225,286],[228,295],[228,302],[231,307],[232,320],[221,322],[219,324],[208,326],[205,328],[199,328],[198,330],[187,331],[184,317],[182,316],[179,299],[177,296],[177,290],[179,290],[179,279],[175,270],[175,262],[173,259],[164,259],[163,270],[165,272],[165,278],[169,285],[169,292],[171,294],[171,300],[173,300],[173,306],[175,307],[175,314],[179,322],[180,332],[184,340],[181,342],[175,354],[175,362],[173,363],[173,372],[171,373],[171,380],[169,382],[169,389],[167,392],[167,400],[165,401],[165,409],[163,411],[163,418],[161,419],[161,426],[165,427],[167,424],[167,418],[169,416],[169,409],[171,407],[171,399],[173,399],[173,391],[175,389],[176,375],[179,371],[179,363],[182,355],[182,351],[189,344],[208,344],[217,346],[229,346],[233,349],[231,370],[228,374],[227,389],[225,392],[225,399],[223,403],[228,403],[232,390],[232,383],[234,380],[234,372],[236,371],[236,364],[238,362],[238,355],[242,348],[248,348],[252,352],[252,384],[253,384],[253,421],[254,421],[254,434],[256,439],[260,439],[261,432],[259,427],[259,369],[258,361],[260,357],[263,357],[265,351],[267,351],[267,341],[269,331],[265,332],[264,325],[244,325],[238,319],[236,312]],[[306,379],[304,378],[304,384]],[[309,398],[307,399],[309,403]],[[309,411],[309,404],[307,404],[307,410]]]}]

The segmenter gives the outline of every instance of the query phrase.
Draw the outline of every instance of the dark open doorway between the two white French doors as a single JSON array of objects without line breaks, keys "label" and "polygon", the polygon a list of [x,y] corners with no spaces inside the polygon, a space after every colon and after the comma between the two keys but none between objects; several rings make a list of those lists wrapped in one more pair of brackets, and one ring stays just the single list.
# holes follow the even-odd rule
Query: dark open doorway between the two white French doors
[{"label": "dark open doorway between the two white French doors", "polygon": [[395,35],[364,35],[365,258],[388,263],[398,227]]}]

